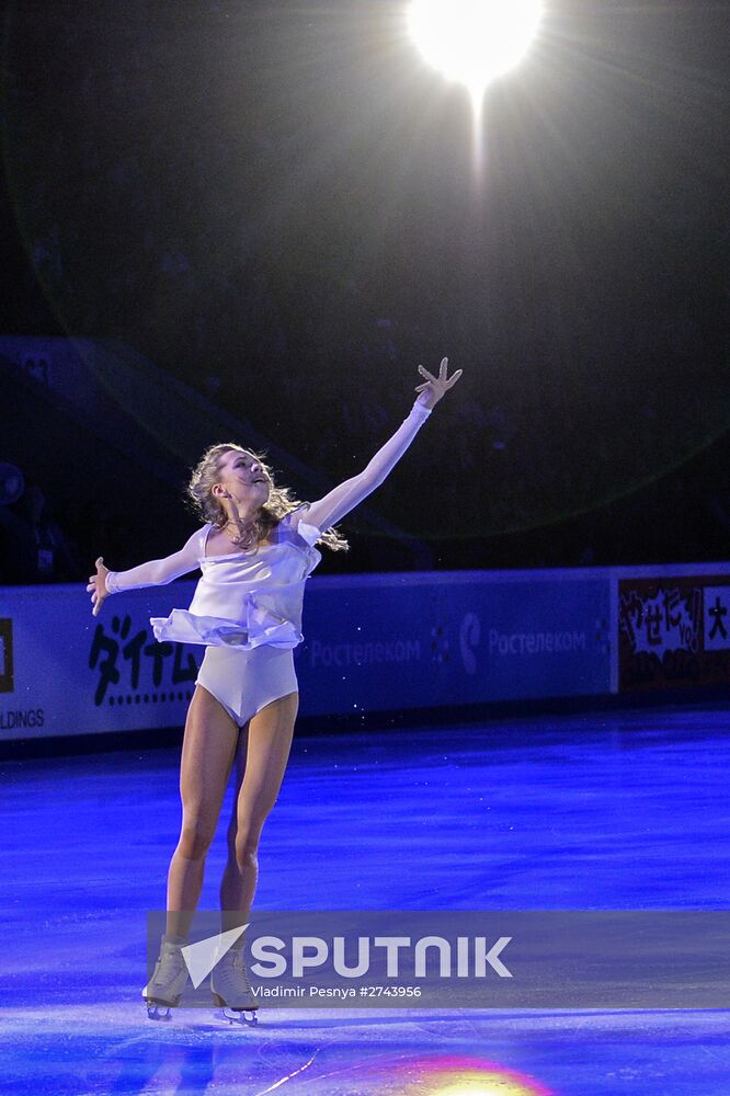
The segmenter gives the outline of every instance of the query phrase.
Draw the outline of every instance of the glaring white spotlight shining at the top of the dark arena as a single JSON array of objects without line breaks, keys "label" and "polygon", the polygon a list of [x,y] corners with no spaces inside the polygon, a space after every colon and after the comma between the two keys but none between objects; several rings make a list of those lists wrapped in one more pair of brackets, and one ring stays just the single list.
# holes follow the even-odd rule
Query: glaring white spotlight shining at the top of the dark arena
[{"label": "glaring white spotlight shining at the top of the dark arena", "polygon": [[477,102],[527,53],[543,7],[541,0],[413,0],[408,27],[425,59],[465,83]]}]

